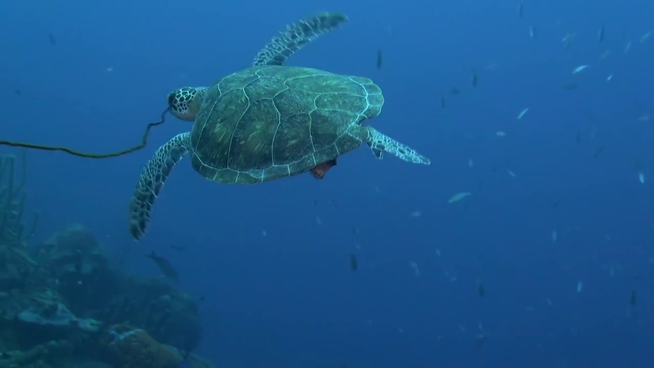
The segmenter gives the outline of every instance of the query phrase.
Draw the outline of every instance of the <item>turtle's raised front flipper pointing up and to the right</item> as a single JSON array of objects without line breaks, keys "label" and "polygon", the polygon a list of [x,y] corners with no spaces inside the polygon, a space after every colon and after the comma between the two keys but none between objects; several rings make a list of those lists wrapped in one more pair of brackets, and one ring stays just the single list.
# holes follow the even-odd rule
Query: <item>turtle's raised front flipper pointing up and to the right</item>
[{"label": "turtle's raised front flipper pointing up and to the right", "polygon": [[341,13],[324,12],[298,20],[286,26],[286,30],[275,36],[254,58],[252,66],[284,65],[296,51],[324,33],[339,28],[347,21]]}]

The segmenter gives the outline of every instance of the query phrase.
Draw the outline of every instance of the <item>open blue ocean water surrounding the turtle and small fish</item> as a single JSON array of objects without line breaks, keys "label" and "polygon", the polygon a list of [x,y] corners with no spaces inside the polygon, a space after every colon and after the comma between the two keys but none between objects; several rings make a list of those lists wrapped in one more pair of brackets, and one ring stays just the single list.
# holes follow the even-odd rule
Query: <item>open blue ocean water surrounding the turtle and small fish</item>
[{"label": "open blue ocean water surrounding the turtle and small fish", "polygon": [[168,92],[248,67],[285,24],[329,10],[349,22],[288,64],[370,77],[386,98],[370,123],[432,160],[361,148],[322,181],[253,186],[182,160],[134,242],[143,165],[191,127],[169,118],[119,158],[29,151],[35,241],[84,223],[135,274],[158,274],[153,249],[169,257],[204,298],[198,352],[218,367],[651,367],[654,37],[640,39],[654,9],[523,4],[5,1],[0,139],[128,147]]}]

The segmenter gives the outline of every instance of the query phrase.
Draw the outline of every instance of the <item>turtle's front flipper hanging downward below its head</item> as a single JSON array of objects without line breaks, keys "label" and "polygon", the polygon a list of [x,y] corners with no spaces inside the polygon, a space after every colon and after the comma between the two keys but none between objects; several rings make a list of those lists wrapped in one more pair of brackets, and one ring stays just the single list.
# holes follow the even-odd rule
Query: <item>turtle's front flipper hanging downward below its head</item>
[{"label": "turtle's front flipper hanging downward below its head", "polygon": [[190,136],[189,132],[177,134],[159,147],[143,168],[129,205],[129,232],[136,240],[145,234],[152,204],[159,195],[165,179],[168,178],[175,164],[188,153]]}]

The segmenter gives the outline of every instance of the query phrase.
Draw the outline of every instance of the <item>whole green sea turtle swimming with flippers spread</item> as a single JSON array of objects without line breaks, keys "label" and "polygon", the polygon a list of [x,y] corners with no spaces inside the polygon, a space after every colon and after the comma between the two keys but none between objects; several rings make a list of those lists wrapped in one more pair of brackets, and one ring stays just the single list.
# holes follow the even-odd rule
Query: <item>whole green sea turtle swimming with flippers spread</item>
[{"label": "whole green sea turtle swimming with flippers spread", "polygon": [[199,174],[218,183],[254,184],[303,172],[324,177],[337,156],[366,143],[417,164],[425,156],[370,126],[381,113],[381,88],[365,77],[284,66],[288,56],[347,20],[324,13],[287,26],[254,60],[254,66],[208,88],[169,94],[173,115],[193,120],[190,132],[164,143],[148,161],[129,208],[129,230],[145,234],[152,204],[186,153]]}]

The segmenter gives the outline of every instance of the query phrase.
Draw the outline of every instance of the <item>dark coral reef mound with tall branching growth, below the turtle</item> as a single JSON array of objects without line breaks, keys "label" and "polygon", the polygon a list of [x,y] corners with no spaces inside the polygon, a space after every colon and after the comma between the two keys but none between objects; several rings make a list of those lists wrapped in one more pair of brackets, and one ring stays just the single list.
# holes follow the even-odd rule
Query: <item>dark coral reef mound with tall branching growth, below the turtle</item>
[{"label": "dark coral reef mound with tall branching growth, below the turtle", "polygon": [[1,368],[213,367],[189,354],[201,339],[196,301],[121,272],[92,230],[28,246],[38,217],[24,225],[25,187],[24,159],[0,156]]}]

